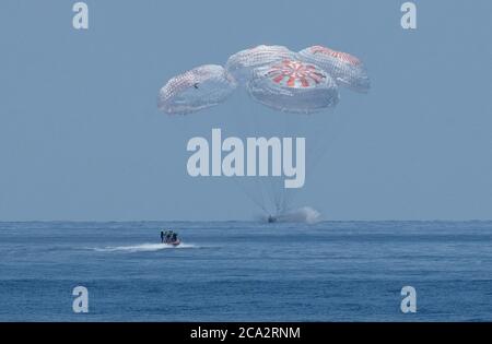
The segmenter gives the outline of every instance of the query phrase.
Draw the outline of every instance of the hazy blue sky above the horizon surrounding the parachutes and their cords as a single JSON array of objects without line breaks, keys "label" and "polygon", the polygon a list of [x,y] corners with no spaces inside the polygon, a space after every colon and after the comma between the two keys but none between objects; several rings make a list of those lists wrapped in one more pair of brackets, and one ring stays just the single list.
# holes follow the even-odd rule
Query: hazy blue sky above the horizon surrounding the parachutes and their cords
[{"label": "hazy blue sky above the horizon surrounding the parachutes and their cords", "polygon": [[492,1],[417,1],[415,32],[402,0],[86,1],[85,32],[74,2],[0,2],[0,221],[251,218],[234,181],[186,174],[187,140],[248,99],[185,123],[156,95],[258,44],[349,51],[373,82],[342,92],[343,130],[295,204],[328,220],[492,218]]}]

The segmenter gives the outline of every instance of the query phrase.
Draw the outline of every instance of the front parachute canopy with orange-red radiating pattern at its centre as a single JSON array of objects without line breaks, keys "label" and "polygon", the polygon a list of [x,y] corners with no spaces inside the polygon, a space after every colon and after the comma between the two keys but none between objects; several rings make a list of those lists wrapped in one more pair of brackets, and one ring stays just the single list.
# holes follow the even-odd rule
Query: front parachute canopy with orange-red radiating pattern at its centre
[{"label": "front parachute canopy with orange-red radiating pattern at its centre", "polygon": [[259,103],[286,112],[309,114],[339,99],[337,83],[328,73],[295,60],[255,69],[248,91]]}]

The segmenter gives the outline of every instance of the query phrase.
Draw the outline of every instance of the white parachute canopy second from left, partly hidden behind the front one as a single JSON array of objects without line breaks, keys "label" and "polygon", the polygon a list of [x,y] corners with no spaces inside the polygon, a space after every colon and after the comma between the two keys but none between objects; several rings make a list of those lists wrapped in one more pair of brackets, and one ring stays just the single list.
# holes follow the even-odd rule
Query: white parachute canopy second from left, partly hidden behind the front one
[{"label": "white parachute canopy second from left, partly hidden behind the front one", "polygon": [[295,59],[296,54],[283,46],[259,45],[251,49],[242,50],[231,56],[225,69],[239,83],[246,83],[253,75],[255,68],[267,66],[280,60]]}]

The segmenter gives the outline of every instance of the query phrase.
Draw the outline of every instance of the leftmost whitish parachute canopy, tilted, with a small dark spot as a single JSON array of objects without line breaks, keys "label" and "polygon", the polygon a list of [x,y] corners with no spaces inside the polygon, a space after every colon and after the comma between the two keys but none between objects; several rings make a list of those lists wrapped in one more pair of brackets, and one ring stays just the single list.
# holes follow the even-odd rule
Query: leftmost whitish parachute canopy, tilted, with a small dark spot
[{"label": "leftmost whitish parachute canopy, tilted, with a small dark spot", "polygon": [[171,79],[159,93],[159,109],[186,115],[215,106],[236,88],[234,78],[216,64],[204,64]]}]

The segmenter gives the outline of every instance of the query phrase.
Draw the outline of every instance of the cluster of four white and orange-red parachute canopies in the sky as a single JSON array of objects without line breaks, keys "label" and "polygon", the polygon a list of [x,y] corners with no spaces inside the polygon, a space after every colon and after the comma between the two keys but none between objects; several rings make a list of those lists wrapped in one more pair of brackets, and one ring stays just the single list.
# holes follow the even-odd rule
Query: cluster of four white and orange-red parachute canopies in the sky
[{"label": "cluster of four white and orange-red parachute canopies in the sky", "polygon": [[159,108],[169,115],[196,112],[224,102],[238,85],[270,108],[311,114],[336,106],[339,86],[365,93],[371,83],[362,61],[350,54],[260,45],[234,54],[225,68],[204,64],[171,79],[160,91]]}]

